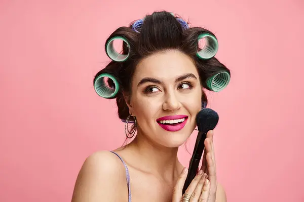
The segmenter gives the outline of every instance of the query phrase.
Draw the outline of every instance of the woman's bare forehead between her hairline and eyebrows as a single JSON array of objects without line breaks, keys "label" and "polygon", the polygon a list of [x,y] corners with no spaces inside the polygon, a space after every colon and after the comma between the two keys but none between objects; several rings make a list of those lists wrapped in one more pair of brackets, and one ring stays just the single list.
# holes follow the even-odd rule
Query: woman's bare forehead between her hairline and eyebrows
[{"label": "woman's bare forehead between her hairline and eyebrows", "polygon": [[196,66],[189,56],[178,51],[166,51],[153,54],[140,61],[133,80],[136,82],[143,77],[154,77],[166,82],[185,73],[193,73],[199,78]]}]

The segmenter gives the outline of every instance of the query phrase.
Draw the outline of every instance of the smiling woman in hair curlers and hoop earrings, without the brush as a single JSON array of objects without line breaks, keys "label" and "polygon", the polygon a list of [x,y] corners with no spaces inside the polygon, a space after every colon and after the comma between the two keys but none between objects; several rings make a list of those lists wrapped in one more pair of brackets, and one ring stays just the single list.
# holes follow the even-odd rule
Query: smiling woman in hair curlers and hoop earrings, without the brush
[{"label": "smiling woman in hair curlers and hoop earrings, without the brush", "polygon": [[[112,48],[117,38],[124,40],[122,54]],[[198,48],[199,38],[206,38],[205,48]],[[229,83],[230,71],[214,58],[213,33],[189,28],[172,13],[155,12],[118,28],[105,48],[112,61],[96,75],[95,90],[116,98],[126,135],[134,139],[86,159],[72,202],[226,201],[216,180],[212,131],[202,168],[185,194],[187,169],[177,159],[178,147],[193,133],[196,115],[207,104],[203,88],[219,91]],[[105,76],[111,89],[104,85]]]}]

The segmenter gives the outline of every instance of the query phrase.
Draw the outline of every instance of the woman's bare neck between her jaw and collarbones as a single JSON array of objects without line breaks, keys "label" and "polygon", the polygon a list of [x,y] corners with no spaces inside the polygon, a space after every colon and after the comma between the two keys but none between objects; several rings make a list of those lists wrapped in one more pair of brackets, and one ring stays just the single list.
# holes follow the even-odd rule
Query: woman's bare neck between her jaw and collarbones
[{"label": "woman's bare neck between her jaw and collarbones", "polygon": [[178,147],[157,144],[140,131],[128,147],[134,152],[138,169],[168,182],[175,181],[183,168],[177,158]]}]

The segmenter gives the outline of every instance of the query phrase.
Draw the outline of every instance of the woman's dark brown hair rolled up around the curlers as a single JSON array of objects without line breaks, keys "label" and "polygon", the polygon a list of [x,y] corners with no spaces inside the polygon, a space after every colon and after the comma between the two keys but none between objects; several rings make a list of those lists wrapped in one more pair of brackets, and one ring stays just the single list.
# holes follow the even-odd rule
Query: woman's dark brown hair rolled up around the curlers
[{"label": "woman's dark brown hair rolled up around the curlers", "polygon": [[[200,75],[201,84],[206,89],[208,89],[206,79],[210,76],[223,70],[230,74],[229,69],[215,57],[208,60],[197,57],[199,51],[198,36],[202,33],[214,36],[209,30],[201,27],[184,29],[177,17],[165,11],[154,12],[145,16],[139,32],[132,29],[134,22],[129,27],[119,27],[107,38],[105,43],[107,44],[115,36],[124,37],[128,40],[130,46],[128,47],[126,42],[123,43],[123,54],[129,54],[129,58],[125,62],[111,61],[95,76],[96,78],[102,73],[110,73],[117,78],[120,89],[115,97],[120,119],[126,120],[129,116],[129,109],[123,93],[125,95],[131,93],[131,81],[138,62],[151,54],[174,49],[188,55],[194,61]],[[108,83],[113,87],[115,86],[110,79]],[[202,102],[207,102],[205,92],[202,94]],[[132,120],[132,117],[130,119]]]}]

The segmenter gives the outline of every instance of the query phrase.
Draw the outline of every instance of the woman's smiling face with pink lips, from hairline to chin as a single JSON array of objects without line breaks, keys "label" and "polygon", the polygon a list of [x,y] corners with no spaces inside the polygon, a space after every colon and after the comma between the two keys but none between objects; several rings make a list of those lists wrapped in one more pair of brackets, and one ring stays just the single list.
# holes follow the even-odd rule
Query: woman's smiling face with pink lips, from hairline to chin
[{"label": "woman's smiling face with pink lips, from hairline to chin", "polygon": [[191,58],[167,51],[137,65],[128,106],[139,132],[157,144],[177,147],[196,127],[201,98],[202,86]]}]

